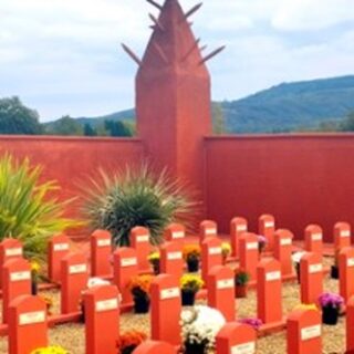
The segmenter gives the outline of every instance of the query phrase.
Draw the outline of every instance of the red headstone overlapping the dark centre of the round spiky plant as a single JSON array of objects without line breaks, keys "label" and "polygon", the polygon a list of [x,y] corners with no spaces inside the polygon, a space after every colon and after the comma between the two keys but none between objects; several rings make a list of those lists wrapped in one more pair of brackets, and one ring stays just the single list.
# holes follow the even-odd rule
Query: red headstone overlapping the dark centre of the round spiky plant
[{"label": "red headstone overlapping the dark centre of the round spiky plant", "polygon": [[136,227],[131,231],[131,246],[135,249],[139,270],[149,270],[148,254],[150,252],[149,231],[147,228]]}]

